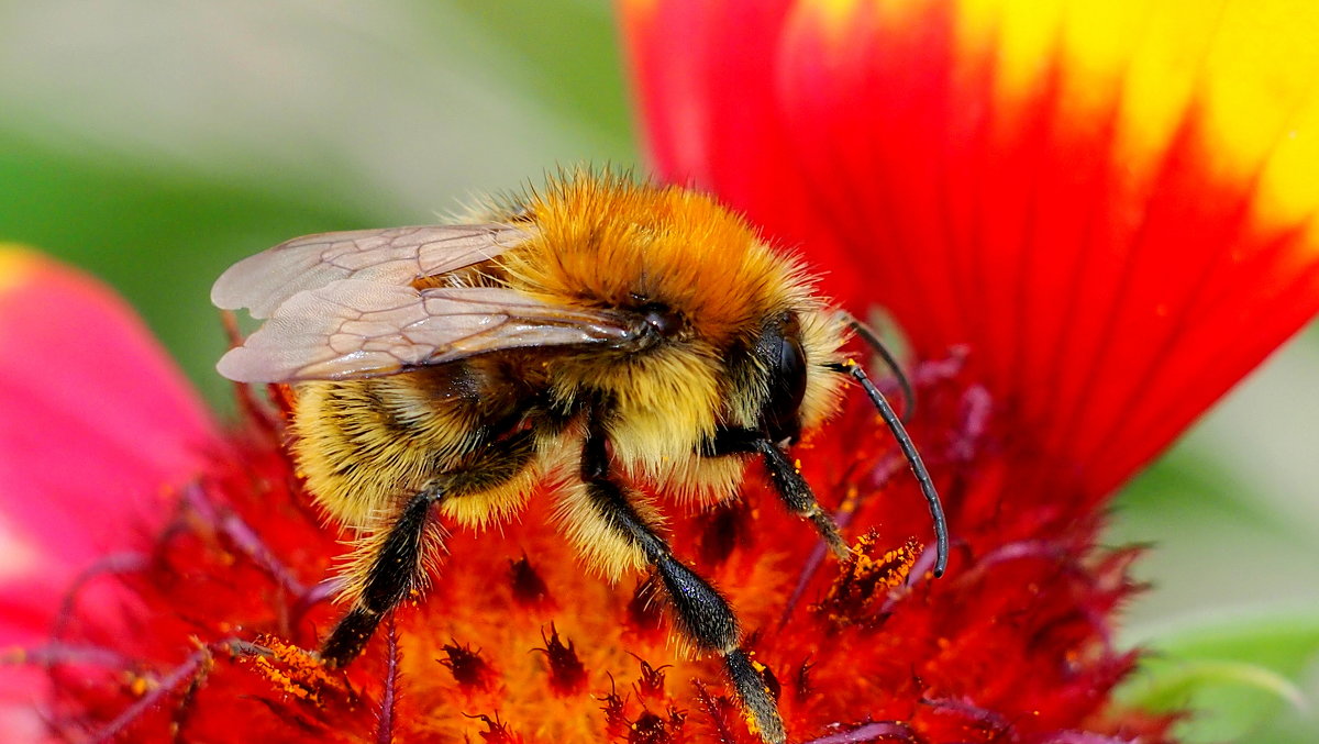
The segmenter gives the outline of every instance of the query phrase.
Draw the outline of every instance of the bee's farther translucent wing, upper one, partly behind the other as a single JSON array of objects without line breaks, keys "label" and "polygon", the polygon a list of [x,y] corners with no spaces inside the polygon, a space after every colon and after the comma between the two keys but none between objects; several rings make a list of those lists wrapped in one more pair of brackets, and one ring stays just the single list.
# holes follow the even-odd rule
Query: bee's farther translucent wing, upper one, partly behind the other
[{"label": "bee's farther translucent wing, upper one, partly behind the other", "polygon": [[405,285],[493,259],[532,233],[506,224],[393,227],[294,237],[243,259],[215,280],[211,302],[272,318],[298,293],[339,280]]}]

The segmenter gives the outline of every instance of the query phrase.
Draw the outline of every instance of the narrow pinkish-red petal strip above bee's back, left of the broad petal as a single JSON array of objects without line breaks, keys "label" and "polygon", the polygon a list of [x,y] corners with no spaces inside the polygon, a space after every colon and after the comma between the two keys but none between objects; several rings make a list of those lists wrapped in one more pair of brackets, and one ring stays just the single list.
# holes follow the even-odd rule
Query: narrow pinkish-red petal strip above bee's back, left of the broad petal
[{"label": "narrow pinkish-red petal strip above bee's back, left of the broad petal", "polygon": [[[621,9],[658,173],[718,193],[732,207],[753,211],[780,243],[809,244],[814,257],[824,259],[843,248],[814,228],[820,204],[793,157],[770,74],[791,5],[630,0]],[[842,288],[860,277],[839,272],[830,278]]]}]

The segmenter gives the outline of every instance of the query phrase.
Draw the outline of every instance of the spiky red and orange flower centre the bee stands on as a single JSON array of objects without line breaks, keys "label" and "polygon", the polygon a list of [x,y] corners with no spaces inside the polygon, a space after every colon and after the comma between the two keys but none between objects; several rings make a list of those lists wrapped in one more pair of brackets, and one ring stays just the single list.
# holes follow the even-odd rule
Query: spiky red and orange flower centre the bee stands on
[{"label": "spiky red and orange flower centre the bee stands on", "polygon": [[[62,307],[94,290],[54,281],[65,273],[32,276],[44,290],[21,303],[33,334],[47,334]],[[128,325],[121,309],[99,310],[100,326]],[[135,389],[149,394],[107,401],[157,405],[162,416],[179,408],[153,401],[152,385],[171,372],[142,363],[138,373]],[[927,578],[929,551],[917,559],[911,537],[929,534],[927,516],[864,405],[801,452],[805,475],[856,538],[845,565],[826,562],[810,528],[762,484],[751,484],[744,501],[673,521],[675,551],[739,609],[794,739],[1068,740],[1082,724],[1124,736],[1162,731],[1166,720],[1121,715],[1104,697],[1130,665],[1109,646],[1105,620],[1130,590],[1129,555],[1086,555],[1088,522],[1033,534],[1041,504],[1004,511],[991,499],[1002,433],[960,359],[919,367],[915,383],[923,414],[914,435],[966,514],[947,578]],[[50,397],[37,388],[29,402]],[[758,740],[719,664],[674,648],[653,584],[637,576],[611,587],[588,575],[547,529],[543,499],[501,534],[455,530],[426,600],[397,613],[347,673],[326,670],[302,649],[315,648],[338,615],[324,578],[343,547],[284,455],[280,419],[248,410],[226,441],[203,438],[211,458],[190,463],[190,476],[156,476],[171,484],[166,499],[120,526],[140,540],[88,557],[83,580],[42,576],[62,608],[42,608],[38,619],[54,615],[53,631],[41,641],[30,640],[36,631],[24,636],[17,661],[50,682],[37,710],[54,739]],[[175,417],[179,434],[187,421]],[[121,458],[96,449],[100,439],[74,443],[88,456]],[[69,468],[54,442],[37,450]],[[88,522],[63,534],[77,540]],[[95,586],[115,591],[102,599],[88,594]],[[18,599],[0,594],[5,616]]]}]

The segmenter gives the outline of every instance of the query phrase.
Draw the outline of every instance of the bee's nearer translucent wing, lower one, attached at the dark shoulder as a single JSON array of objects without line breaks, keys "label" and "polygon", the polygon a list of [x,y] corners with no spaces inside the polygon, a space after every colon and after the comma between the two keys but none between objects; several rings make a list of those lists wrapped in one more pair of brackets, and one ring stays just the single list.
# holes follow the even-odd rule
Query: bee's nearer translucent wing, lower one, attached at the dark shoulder
[{"label": "bee's nearer translucent wing, lower one, attached at the dark shoulder", "polygon": [[497,288],[417,290],[357,278],[301,292],[216,368],[240,383],[392,375],[505,348],[644,343],[644,323]]}]

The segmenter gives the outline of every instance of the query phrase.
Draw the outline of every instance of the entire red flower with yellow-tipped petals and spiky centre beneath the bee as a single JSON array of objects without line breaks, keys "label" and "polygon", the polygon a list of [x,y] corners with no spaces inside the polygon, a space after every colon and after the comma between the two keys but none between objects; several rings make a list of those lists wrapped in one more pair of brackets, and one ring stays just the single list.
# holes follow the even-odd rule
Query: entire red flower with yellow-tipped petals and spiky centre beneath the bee
[{"label": "entire red flower with yellow-tipped petals and spiky centre beneath the bee", "polygon": [[[927,516],[864,405],[802,456],[852,561],[822,559],[756,485],[673,524],[793,740],[1167,739],[1171,718],[1111,698],[1136,658],[1112,642],[1134,551],[1095,547],[1100,509],[1319,310],[1319,11],[629,0],[623,17],[660,171],[801,245],[857,310],[886,306],[918,360],[947,576],[913,559]],[[8,708],[11,739],[754,741],[649,584],[584,575],[541,505],[456,532],[427,600],[347,673],[311,664],[342,546],[280,417],[251,406],[215,433],[104,290],[5,256],[0,338],[22,352],[0,357],[0,526],[22,561],[0,642],[26,662],[8,699],[36,697]],[[88,363],[61,338],[96,339]]]}]

